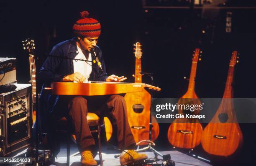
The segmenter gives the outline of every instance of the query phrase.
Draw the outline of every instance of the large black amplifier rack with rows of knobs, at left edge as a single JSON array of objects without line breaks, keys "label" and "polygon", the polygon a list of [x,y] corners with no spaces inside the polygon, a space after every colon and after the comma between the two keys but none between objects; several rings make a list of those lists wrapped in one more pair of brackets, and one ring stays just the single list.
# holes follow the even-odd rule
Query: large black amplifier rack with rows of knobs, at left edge
[{"label": "large black amplifier rack with rows of knobs, at left edge", "polygon": [[31,144],[31,84],[0,94],[0,156]]}]

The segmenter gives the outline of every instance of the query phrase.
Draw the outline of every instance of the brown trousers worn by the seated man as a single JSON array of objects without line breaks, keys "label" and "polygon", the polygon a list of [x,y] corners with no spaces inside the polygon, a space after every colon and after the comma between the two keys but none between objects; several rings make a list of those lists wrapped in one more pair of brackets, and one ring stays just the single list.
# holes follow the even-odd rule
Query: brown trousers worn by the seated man
[{"label": "brown trousers worn by the seated man", "polygon": [[100,118],[107,116],[111,124],[116,125],[116,131],[113,133],[116,133],[114,137],[116,137],[120,149],[131,148],[135,145],[128,124],[124,97],[116,94],[100,97],[61,97],[54,107],[54,115],[59,118],[66,116],[71,121],[80,152],[87,150],[89,146],[95,145],[86,118],[88,110],[99,115]]}]

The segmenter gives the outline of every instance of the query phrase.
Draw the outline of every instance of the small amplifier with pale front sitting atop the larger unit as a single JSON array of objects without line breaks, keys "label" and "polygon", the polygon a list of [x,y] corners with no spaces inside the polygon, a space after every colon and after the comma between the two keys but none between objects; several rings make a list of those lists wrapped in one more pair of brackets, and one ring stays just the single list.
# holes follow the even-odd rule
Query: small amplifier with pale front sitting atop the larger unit
[{"label": "small amplifier with pale front sitting atop the larger unit", "polygon": [[17,82],[16,58],[0,57],[0,85]]}]

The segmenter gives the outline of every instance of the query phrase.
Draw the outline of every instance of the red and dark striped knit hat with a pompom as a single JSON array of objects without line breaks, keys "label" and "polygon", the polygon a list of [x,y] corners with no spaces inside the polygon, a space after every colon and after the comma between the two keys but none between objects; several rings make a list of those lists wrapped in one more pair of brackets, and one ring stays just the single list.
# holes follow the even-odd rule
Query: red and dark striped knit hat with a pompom
[{"label": "red and dark striped knit hat with a pompom", "polygon": [[99,37],[100,22],[93,18],[89,18],[89,12],[80,12],[82,19],[77,20],[73,25],[74,34],[81,37]]}]

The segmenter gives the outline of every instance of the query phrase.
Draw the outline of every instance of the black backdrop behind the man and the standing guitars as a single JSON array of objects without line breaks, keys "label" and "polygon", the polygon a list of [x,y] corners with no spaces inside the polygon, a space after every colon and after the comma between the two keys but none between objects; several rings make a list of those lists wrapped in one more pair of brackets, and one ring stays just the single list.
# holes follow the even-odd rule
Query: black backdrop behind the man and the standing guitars
[{"label": "black backdrop behind the man and the standing guitars", "polygon": [[[189,3],[148,0],[144,5],[189,6]],[[219,6],[253,7],[256,2],[229,0]],[[133,44],[141,42],[142,70],[153,72],[154,84],[161,87],[154,97],[179,98],[187,91],[188,81],[183,77],[189,78],[192,53],[198,47],[203,53],[197,66],[195,92],[200,98],[221,98],[229,60],[232,51],[237,50],[240,62],[236,65],[234,97],[256,98],[256,9],[151,9],[143,8],[141,0],[0,1],[0,57],[17,58],[18,83],[28,83],[30,79],[28,54],[22,49],[21,41],[28,37],[35,40],[39,69],[46,59],[44,53],[73,37],[72,26],[83,10],[88,10],[101,23],[98,45],[109,75],[124,75],[127,82],[134,82]],[[225,32],[228,11],[232,12],[231,33]],[[147,76],[143,82],[151,84]],[[37,84],[41,86],[40,82]],[[211,156],[201,145],[193,153],[215,165],[255,164],[255,125],[240,126],[244,144],[237,154],[227,158]],[[172,149],[166,136],[168,127],[169,124],[160,124],[158,150]]]}]

